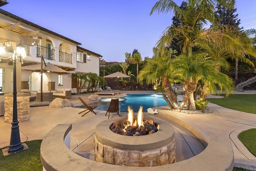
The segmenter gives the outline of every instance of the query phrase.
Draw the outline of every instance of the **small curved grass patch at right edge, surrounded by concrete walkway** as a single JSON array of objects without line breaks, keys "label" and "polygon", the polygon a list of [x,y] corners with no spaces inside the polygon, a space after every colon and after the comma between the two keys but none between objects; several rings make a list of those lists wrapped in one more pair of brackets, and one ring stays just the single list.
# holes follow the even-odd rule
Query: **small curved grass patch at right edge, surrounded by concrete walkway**
[{"label": "small curved grass patch at right edge, surrounded by concrete walkway", "polygon": [[238,135],[238,139],[256,157],[256,129],[248,129]]}]

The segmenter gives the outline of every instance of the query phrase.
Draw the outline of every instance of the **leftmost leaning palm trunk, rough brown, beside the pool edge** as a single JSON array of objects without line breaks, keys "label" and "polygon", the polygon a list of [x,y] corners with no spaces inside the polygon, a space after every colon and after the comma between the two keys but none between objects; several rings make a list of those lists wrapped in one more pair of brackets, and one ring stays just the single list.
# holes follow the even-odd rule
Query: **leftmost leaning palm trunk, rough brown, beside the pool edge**
[{"label": "leftmost leaning palm trunk, rough brown, beside the pool edge", "polygon": [[174,91],[172,90],[172,86],[171,86],[170,81],[168,80],[168,78],[163,79],[163,84],[162,85],[163,85],[164,91],[166,92],[166,95],[168,96],[168,98],[170,99],[170,102],[172,103],[171,106],[174,109],[180,109],[180,107],[178,106],[178,103],[177,103],[176,93],[174,93]]}]

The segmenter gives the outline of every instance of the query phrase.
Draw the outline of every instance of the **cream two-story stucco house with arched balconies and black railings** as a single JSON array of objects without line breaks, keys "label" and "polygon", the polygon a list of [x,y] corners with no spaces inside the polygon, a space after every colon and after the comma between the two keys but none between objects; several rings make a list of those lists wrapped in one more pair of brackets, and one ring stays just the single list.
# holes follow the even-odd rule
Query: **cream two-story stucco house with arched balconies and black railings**
[{"label": "cream two-story stucco house with arched balconies and black railings", "polygon": [[[23,66],[33,67],[41,64],[41,59],[46,65],[50,63],[68,72],[63,74],[51,70],[44,71],[43,91],[61,87],[72,88],[76,93],[76,87],[72,86],[72,73],[92,72],[99,75],[99,58],[102,57],[100,54],[78,46],[81,45],[79,42],[0,9],[0,43],[5,46],[4,56],[8,57],[20,41],[26,46],[27,56],[24,64],[17,62],[18,92],[21,89],[41,91],[40,70],[22,69]],[[0,91],[4,93],[12,92],[12,71],[10,60],[0,62]]]}]

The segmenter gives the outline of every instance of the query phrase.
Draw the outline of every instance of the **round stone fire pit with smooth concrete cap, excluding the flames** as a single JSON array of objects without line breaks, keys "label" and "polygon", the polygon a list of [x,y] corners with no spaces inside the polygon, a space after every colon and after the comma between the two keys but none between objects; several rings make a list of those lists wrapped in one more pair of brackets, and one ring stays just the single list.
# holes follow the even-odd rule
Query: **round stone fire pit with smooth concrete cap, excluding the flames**
[{"label": "round stone fire pit with smooth concrete cap, excluding the flames", "polygon": [[[120,119],[126,119],[122,117]],[[159,131],[143,136],[124,136],[110,130],[115,119],[102,121],[94,136],[95,161],[126,166],[160,166],[176,161],[174,129],[169,123],[152,115],[143,120],[154,120]]]}]

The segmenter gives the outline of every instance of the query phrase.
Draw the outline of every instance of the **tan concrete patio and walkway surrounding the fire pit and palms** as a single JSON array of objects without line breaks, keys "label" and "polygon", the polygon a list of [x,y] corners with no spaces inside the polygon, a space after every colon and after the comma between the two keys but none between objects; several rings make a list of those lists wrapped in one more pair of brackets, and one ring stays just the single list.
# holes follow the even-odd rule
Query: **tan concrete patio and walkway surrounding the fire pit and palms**
[{"label": "tan concrete patio and walkway surrounding the fire pit and palms", "polygon": [[[122,92],[120,95],[115,95],[114,97],[123,97],[125,93],[132,92]],[[89,95],[90,94],[81,94],[80,96],[86,101]],[[219,96],[211,95],[211,97],[218,98]],[[70,101],[73,105],[82,105],[80,100],[77,99],[77,95],[72,95]],[[208,135],[229,137],[234,150],[235,166],[256,169],[256,157],[254,157],[237,138],[240,132],[246,129],[256,128],[256,114],[226,109],[213,103],[208,103],[208,106],[210,109],[214,110],[214,113],[196,115],[168,110],[164,110],[164,112],[168,112],[170,115],[175,115],[176,117],[190,122]],[[167,108],[168,107],[159,107],[159,110]],[[98,123],[107,119],[107,116],[105,116],[106,111],[95,110],[97,115],[88,113],[84,117],[81,117],[81,114],[79,115],[78,113],[82,110],[84,109],[74,107],[64,107],[61,109],[52,109],[48,106],[30,107],[30,120],[19,123],[21,141],[43,139],[56,125],[60,123],[72,123],[70,149],[78,155],[93,159],[94,129]],[[120,115],[124,116],[127,115],[127,113],[120,113]],[[118,115],[112,115],[110,117],[118,119]],[[156,117],[161,118],[157,115]],[[167,121],[167,119],[165,120]],[[168,122],[171,123],[175,129],[177,161],[189,159],[204,150],[204,145],[187,129],[172,121]],[[9,145],[10,132],[11,124],[5,123],[4,116],[1,116],[0,148]]]}]

